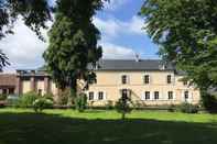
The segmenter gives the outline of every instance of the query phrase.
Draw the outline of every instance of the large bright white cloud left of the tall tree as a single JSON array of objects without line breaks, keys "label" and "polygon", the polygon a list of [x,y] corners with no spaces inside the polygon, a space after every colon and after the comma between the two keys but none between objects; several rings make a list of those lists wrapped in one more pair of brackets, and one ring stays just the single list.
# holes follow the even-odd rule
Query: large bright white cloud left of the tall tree
[{"label": "large bright white cloud left of the tall tree", "polygon": [[[50,24],[51,25],[51,24]],[[9,57],[11,66],[15,68],[36,68],[43,64],[42,54],[47,47],[47,43],[37,38],[34,32],[23,24],[21,19],[14,25],[14,34],[7,35],[0,41],[0,48]],[[47,40],[46,30],[42,30]]]}]

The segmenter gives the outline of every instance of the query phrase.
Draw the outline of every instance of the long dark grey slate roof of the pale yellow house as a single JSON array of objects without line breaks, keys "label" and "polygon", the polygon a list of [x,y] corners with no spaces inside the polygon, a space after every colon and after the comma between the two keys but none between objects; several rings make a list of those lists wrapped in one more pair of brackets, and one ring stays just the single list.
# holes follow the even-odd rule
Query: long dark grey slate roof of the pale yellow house
[{"label": "long dark grey slate roof of the pale yellow house", "polygon": [[[96,70],[175,70],[160,59],[100,59]],[[164,69],[162,67],[164,66]]]}]

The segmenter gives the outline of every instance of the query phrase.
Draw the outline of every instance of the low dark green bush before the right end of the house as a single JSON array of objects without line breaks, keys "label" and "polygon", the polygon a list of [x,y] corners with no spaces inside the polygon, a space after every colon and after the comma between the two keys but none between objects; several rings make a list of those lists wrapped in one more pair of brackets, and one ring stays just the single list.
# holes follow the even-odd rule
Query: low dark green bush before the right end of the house
[{"label": "low dark green bush before the right end of the house", "polygon": [[197,113],[198,109],[199,109],[198,106],[194,106],[186,102],[180,106],[180,111],[183,113]]}]

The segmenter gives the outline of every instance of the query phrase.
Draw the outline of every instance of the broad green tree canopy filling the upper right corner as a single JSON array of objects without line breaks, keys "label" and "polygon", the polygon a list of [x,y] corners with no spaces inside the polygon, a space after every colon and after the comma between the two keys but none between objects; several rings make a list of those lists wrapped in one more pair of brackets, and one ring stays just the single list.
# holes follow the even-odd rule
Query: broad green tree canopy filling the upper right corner
[{"label": "broad green tree canopy filling the upper right corner", "polygon": [[217,87],[216,0],[145,0],[140,14],[163,59],[200,89]]}]

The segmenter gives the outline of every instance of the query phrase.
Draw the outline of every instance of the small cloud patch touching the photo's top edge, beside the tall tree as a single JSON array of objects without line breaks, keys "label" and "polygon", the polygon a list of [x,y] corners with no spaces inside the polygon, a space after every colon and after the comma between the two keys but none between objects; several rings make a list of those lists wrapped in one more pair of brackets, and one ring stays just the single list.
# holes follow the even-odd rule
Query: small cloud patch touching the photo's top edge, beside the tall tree
[{"label": "small cloud patch touching the photo's top edge, beside the tall tree", "polygon": [[109,11],[115,11],[120,7],[124,5],[129,0],[110,0],[109,2],[105,3],[105,9]]}]

